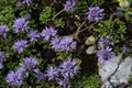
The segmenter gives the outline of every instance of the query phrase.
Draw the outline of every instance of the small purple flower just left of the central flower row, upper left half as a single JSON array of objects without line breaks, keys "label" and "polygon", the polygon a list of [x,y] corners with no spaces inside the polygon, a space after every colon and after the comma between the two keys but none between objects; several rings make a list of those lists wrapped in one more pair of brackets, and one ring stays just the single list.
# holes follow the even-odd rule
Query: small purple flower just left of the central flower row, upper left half
[{"label": "small purple flower just left of the central flower row, upper left half", "polygon": [[37,38],[40,37],[40,33],[37,31],[30,31],[28,37],[30,38],[30,42],[37,42]]}]

